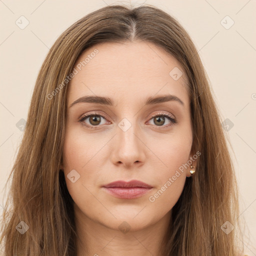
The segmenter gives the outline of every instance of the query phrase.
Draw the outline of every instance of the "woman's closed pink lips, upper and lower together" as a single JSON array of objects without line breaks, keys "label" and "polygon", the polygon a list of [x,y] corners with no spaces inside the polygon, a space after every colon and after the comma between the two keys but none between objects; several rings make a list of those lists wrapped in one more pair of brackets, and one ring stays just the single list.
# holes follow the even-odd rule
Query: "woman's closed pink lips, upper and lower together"
[{"label": "woman's closed pink lips, upper and lower together", "polygon": [[128,182],[124,180],[113,181],[103,185],[102,188],[114,197],[121,199],[132,199],[146,194],[149,190],[151,190],[152,186],[142,181],[133,179]]}]

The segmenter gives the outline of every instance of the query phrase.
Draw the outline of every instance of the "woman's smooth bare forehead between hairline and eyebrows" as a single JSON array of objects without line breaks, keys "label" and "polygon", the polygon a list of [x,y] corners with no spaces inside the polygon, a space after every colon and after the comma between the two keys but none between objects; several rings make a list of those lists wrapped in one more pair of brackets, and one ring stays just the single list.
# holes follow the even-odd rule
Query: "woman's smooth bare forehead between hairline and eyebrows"
[{"label": "woman's smooth bare forehead between hairline and eyebrows", "polygon": [[[76,60],[76,74],[68,85],[68,101],[83,95],[116,96],[135,100],[170,93],[188,101],[182,66],[150,42],[100,43]],[[176,76],[173,76],[177,73]],[[174,78],[175,79],[174,79]]]}]

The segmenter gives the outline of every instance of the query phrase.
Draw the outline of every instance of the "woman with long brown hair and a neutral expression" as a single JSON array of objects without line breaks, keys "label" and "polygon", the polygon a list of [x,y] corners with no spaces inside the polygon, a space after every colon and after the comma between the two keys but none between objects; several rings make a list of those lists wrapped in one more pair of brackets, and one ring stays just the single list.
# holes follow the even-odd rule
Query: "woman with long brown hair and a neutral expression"
[{"label": "woman with long brown hair and a neutral expression", "polygon": [[152,5],[84,16],[39,71],[4,255],[240,255],[219,119],[177,20]]}]

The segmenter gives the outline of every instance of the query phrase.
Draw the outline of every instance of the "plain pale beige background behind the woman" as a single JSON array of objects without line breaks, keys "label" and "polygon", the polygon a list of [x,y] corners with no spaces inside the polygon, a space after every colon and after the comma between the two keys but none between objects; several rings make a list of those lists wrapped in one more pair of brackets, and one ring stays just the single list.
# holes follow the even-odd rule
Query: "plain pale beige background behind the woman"
[{"label": "plain pale beige background behind the woman", "polygon": [[[0,0],[0,204],[27,117],[39,68],[57,37],[85,14],[112,0]],[[131,0],[133,6],[143,1]],[[233,123],[227,135],[245,220],[244,249],[256,255],[256,30],[255,0],[146,0],[173,15],[188,31],[205,66],[222,114]],[[29,24],[20,29],[24,16]],[[229,16],[231,19],[226,18]],[[224,18],[225,17],[225,18]],[[224,18],[224,19],[223,19]],[[221,21],[223,19],[223,21]],[[226,29],[224,26],[229,26]],[[226,23],[226,24],[225,24]],[[25,19],[22,19],[25,24]],[[224,171],[224,170],[223,170]],[[0,206],[2,211],[2,207]]]}]

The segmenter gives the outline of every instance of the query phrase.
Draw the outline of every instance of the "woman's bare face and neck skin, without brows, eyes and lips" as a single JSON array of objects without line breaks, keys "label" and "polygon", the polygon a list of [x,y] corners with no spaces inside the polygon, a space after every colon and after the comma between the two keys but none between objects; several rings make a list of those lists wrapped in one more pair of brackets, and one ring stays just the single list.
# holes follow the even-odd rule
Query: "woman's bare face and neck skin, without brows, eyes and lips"
[{"label": "woman's bare face and neck skin, without brows, eyes and lips", "polygon": [[[184,72],[174,80],[169,72],[174,67],[182,70],[179,62],[148,42],[97,44],[86,49],[75,65],[95,48],[99,52],[75,74],[67,92],[62,169],[74,200],[77,256],[162,255],[160,243],[165,241],[171,209],[190,168],[179,171],[176,180],[153,202],[149,196],[194,154],[190,152],[192,129]],[[143,104],[149,96],[163,94],[177,96],[184,105],[174,100]],[[79,102],[70,106],[87,95],[111,97],[115,104]],[[93,128],[78,121],[90,111],[97,112],[98,124],[93,125],[95,118],[93,122],[89,117],[83,123]],[[171,121],[162,117],[158,124],[161,112],[170,114],[176,123],[168,126]],[[106,118],[98,116],[101,114]],[[131,124],[126,131],[118,126],[123,118]],[[196,160],[192,165],[196,166]],[[75,182],[67,178],[72,169],[80,175]],[[101,187],[131,179],[153,188],[135,199],[119,199]],[[123,221],[128,223],[127,232],[120,230]]]}]

